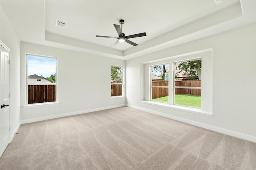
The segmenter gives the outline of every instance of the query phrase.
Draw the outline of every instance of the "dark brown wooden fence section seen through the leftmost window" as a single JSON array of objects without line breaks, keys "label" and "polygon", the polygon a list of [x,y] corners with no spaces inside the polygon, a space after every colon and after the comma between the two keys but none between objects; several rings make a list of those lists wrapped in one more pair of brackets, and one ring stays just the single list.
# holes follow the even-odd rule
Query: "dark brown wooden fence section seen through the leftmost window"
[{"label": "dark brown wooden fence section seen through the leftmost window", "polygon": [[28,104],[55,102],[55,89],[55,84],[28,85]]}]

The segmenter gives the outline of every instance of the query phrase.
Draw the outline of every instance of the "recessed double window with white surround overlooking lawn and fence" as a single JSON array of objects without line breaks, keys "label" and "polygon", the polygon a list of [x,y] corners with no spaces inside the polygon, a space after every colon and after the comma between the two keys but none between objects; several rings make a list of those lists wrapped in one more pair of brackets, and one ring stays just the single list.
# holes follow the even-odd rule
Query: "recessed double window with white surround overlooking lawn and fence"
[{"label": "recessed double window with white surround overlooking lawn and fence", "polygon": [[140,73],[142,103],[212,116],[211,49],[141,64]]}]

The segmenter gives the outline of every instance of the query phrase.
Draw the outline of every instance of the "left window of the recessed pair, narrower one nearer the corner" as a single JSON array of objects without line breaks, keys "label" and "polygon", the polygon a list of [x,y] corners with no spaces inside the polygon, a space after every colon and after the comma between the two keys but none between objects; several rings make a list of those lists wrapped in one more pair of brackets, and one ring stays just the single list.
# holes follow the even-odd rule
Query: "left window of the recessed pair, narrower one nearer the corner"
[{"label": "left window of the recessed pair, narrower one nearer the corner", "polygon": [[169,102],[169,64],[151,66],[151,100]]}]

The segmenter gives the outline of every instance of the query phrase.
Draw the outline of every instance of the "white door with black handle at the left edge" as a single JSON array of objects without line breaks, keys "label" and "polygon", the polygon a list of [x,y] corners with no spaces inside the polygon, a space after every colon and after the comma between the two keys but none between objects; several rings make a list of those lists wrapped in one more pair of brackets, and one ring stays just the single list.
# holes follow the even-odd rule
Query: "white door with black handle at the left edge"
[{"label": "white door with black handle at the left edge", "polygon": [[9,143],[10,136],[10,86],[9,53],[0,43],[0,156]]}]

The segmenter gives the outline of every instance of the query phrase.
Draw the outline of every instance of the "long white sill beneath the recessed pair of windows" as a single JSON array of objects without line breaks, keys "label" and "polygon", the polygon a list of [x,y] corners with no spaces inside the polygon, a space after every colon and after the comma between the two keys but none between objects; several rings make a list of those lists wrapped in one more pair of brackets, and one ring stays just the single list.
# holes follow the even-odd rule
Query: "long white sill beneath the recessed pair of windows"
[{"label": "long white sill beneath the recessed pair of windows", "polygon": [[194,108],[194,107],[169,105],[169,104],[166,104],[166,103],[153,102],[153,101],[140,101],[140,102],[144,103],[144,104],[150,104],[150,105],[154,105],[154,106],[165,107],[165,108],[168,108],[168,109],[176,109],[176,110],[186,111],[186,112],[190,112],[190,113],[196,113],[196,114],[210,116],[210,117],[213,116],[212,111],[206,111],[206,110],[202,110],[202,109],[198,109],[198,108]]}]

